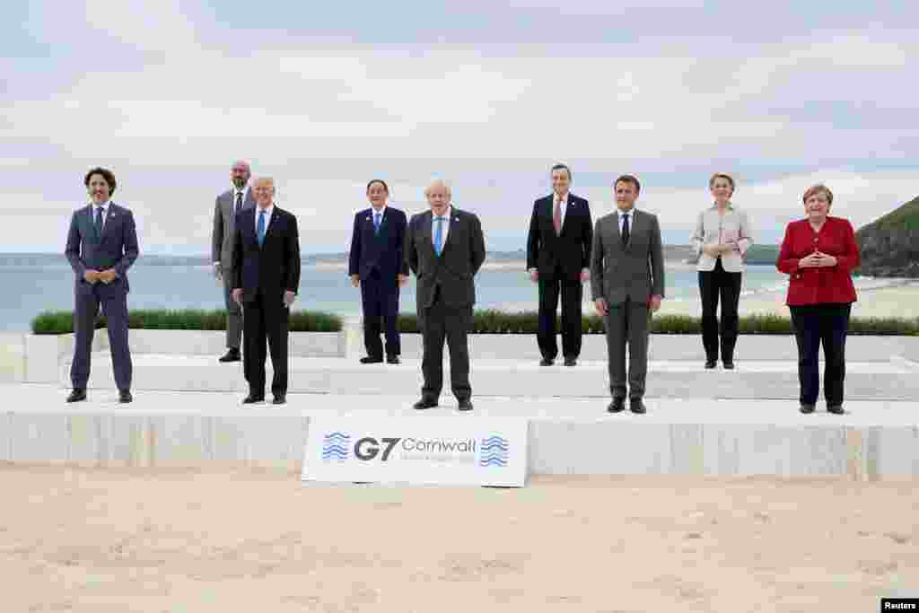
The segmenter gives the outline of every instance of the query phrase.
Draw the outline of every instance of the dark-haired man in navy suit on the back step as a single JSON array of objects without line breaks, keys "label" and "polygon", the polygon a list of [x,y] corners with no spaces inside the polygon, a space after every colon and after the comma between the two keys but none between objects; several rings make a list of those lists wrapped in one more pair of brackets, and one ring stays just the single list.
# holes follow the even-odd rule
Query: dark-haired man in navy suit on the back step
[{"label": "dark-haired man in navy suit on the back step", "polygon": [[406,217],[402,210],[387,206],[390,188],[374,179],[367,184],[370,208],[354,217],[348,275],[360,287],[364,310],[364,346],[367,357],[361,364],[383,361],[380,319],[386,327],[386,361],[399,363],[402,344],[396,320],[399,315],[399,288],[408,282],[408,264],[403,257]]}]

